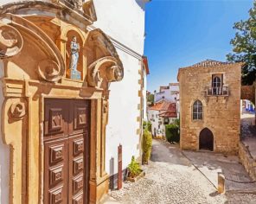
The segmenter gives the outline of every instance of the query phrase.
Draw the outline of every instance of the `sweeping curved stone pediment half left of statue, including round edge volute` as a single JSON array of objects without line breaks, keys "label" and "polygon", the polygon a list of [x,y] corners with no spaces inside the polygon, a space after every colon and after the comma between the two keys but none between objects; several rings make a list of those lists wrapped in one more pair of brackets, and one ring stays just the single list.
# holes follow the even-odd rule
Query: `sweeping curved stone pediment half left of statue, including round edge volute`
[{"label": "sweeping curved stone pediment half left of statue, including round edge volute", "polygon": [[[9,24],[4,24],[3,19],[5,22],[9,22]],[[8,13],[1,20],[0,59],[18,54],[22,49],[23,43],[21,33],[29,34],[29,36],[35,38],[35,41],[37,41],[36,46],[48,51],[45,59],[40,61],[38,66],[35,67],[40,78],[49,82],[60,80],[65,73],[65,63],[54,41],[42,29],[21,16]]]}]

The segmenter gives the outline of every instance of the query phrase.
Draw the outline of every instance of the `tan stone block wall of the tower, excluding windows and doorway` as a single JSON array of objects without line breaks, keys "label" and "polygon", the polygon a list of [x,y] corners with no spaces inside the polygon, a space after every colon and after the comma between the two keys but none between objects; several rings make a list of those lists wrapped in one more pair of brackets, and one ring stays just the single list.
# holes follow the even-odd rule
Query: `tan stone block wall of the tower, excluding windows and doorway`
[{"label": "tan stone block wall of the tower, excluding windows and doorway", "polygon": [[[179,70],[181,148],[199,150],[199,135],[208,128],[214,135],[214,151],[237,154],[240,141],[240,64],[187,67]],[[213,74],[223,74],[229,96],[207,97]],[[195,100],[203,105],[202,120],[192,119]]]}]

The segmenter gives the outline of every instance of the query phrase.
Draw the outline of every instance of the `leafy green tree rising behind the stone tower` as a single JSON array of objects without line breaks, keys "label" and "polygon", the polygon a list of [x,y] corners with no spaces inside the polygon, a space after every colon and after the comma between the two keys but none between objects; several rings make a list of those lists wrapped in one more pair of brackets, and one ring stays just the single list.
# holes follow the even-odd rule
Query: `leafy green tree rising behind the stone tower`
[{"label": "leafy green tree rising behind the stone tower", "polygon": [[256,74],[256,0],[249,15],[246,21],[234,23],[236,34],[230,41],[233,53],[227,54],[227,61],[245,62],[242,67],[242,85],[252,85]]}]

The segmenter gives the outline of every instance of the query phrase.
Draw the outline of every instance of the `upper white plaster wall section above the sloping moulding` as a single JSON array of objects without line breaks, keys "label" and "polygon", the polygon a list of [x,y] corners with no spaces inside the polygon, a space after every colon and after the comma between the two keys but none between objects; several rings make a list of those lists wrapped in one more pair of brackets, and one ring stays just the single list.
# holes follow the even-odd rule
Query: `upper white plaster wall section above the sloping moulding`
[{"label": "upper white plaster wall section above the sloping moulding", "polygon": [[93,0],[93,2],[98,18],[94,26],[143,55],[143,0]]}]

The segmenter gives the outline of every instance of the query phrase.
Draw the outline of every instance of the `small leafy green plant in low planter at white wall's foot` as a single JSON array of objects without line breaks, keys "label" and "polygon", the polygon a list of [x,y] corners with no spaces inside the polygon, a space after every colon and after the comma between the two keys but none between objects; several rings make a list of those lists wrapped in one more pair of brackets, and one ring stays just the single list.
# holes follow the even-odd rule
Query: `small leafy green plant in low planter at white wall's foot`
[{"label": "small leafy green plant in low planter at white wall's foot", "polygon": [[131,157],[131,163],[128,165],[127,180],[130,182],[136,182],[138,179],[145,175],[144,170],[141,169],[139,163],[135,160],[135,157]]}]

